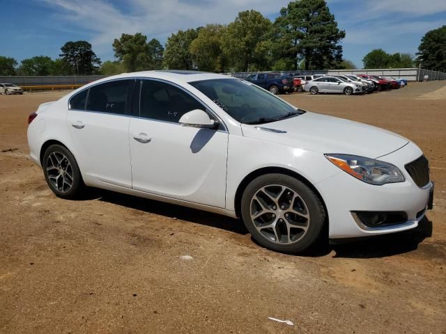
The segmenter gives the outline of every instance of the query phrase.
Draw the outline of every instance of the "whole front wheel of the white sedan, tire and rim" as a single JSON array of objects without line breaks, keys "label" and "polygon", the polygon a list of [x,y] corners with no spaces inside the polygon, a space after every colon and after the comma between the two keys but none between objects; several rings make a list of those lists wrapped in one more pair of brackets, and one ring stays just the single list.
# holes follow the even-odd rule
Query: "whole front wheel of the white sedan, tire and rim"
[{"label": "whole front wheel of the white sedan, tire and rim", "polygon": [[314,245],[326,216],[321,199],[309,186],[283,174],[261,175],[249,183],[241,214],[261,246],[282,253],[299,253]]}]

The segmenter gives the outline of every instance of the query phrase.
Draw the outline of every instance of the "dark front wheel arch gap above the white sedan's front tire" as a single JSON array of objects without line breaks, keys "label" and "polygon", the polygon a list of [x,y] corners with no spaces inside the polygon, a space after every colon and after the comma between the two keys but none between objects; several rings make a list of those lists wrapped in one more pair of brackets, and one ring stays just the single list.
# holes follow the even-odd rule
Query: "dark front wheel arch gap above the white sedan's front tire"
[{"label": "dark front wheel arch gap above the white sedan's front tire", "polygon": [[242,202],[243,191],[245,191],[249,182],[251,182],[252,180],[256,179],[256,177],[259,177],[261,175],[272,174],[272,173],[284,174],[284,175],[289,175],[291,177],[295,177],[297,180],[299,180],[300,182],[303,182],[305,185],[307,185],[309,187],[309,189],[312,189],[312,191],[314,191],[314,193],[316,193],[316,195],[321,199],[321,202],[325,209],[325,213],[326,213],[326,217],[327,217],[326,223],[327,223],[327,227],[328,227],[328,209],[327,209],[327,206],[325,205],[325,201],[324,201],[321,193],[318,191],[318,189],[316,189],[314,184],[312,184],[312,182],[309,182],[309,180],[307,180],[305,177],[303,177],[299,173],[295,172],[294,170],[290,170],[290,169],[283,168],[283,167],[259,168],[259,169],[252,171],[251,173],[249,173],[248,175],[246,175],[243,178],[242,182],[240,182],[240,184],[237,187],[236,196],[234,196],[234,201],[235,201],[234,207],[236,208],[236,216],[238,216],[238,217],[241,216],[240,211],[241,211],[241,202]]}]

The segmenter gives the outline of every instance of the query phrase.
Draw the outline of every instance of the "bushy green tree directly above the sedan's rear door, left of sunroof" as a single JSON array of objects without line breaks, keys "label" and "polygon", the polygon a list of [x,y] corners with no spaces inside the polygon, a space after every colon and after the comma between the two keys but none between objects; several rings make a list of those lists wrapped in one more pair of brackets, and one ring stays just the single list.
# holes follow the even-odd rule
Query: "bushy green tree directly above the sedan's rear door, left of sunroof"
[{"label": "bushy green tree directly above the sedan's rear door, left of sunroof", "polygon": [[122,61],[128,72],[162,68],[164,49],[155,38],[147,42],[147,36],[141,33],[123,33],[121,38],[114,40],[113,50],[114,56]]}]

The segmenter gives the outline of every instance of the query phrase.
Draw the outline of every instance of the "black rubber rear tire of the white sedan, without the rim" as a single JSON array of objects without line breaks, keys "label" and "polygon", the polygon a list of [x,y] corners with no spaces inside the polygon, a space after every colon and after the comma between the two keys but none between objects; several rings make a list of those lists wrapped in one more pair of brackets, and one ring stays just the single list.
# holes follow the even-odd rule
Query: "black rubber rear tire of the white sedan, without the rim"
[{"label": "black rubber rear tire of the white sedan, without the rim", "polygon": [[[66,157],[66,160],[63,159],[63,161],[61,160],[61,163],[59,164],[59,166],[61,166],[62,170],[63,170],[63,166],[68,166],[68,164],[70,165],[70,172],[72,174],[72,183],[70,186],[70,189],[67,189],[65,186],[62,184],[61,186],[59,186],[60,182],[58,183],[58,181],[54,181],[54,175],[50,176],[49,173],[53,173],[52,170],[55,170],[56,173],[61,173],[61,170],[56,170],[52,167],[55,166],[49,166],[49,164],[51,164],[49,157],[50,155],[52,155],[52,158],[54,157],[54,155],[59,155],[59,157],[63,156]],[[54,161],[54,158],[53,158]],[[68,164],[67,164],[68,161]],[[43,161],[42,161],[42,167],[43,167],[43,174],[45,175],[45,180],[47,180],[47,184],[49,186],[49,188],[53,191],[53,193],[60,198],[65,198],[67,200],[74,200],[77,199],[81,196],[81,194],[84,191],[84,181],[82,180],[82,175],[81,172],[79,170],[79,166],[77,165],[76,159],[75,157],[72,155],[72,153],[70,152],[70,150],[68,150],[67,148],[65,148],[62,145],[51,145],[49,146],[49,148],[47,148],[47,150],[45,151],[45,154],[43,154]],[[49,170],[49,168],[51,168],[51,170]],[[68,171],[67,171],[68,173]],[[60,175],[61,177],[63,175]],[[52,180],[50,180],[50,177],[52,177]],[[59,177],[58,177],[59,178]],[[63,176],[63,178],[65,178],[65,176]],[[68,177],[67,179],[68,180]],[[56,184],[58,184],[58,186],[56,186],[56,184],[54,184],[54,182],[56,182]],[[63,181],[65,182],[65,181]]]}]

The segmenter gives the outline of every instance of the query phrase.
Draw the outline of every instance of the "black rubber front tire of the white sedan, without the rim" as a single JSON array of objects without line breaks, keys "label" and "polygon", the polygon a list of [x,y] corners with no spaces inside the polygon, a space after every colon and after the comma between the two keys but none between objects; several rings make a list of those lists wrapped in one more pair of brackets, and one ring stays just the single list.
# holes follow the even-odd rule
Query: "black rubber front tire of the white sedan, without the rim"
[{"label": "black rubber front tire of the white sedan, without the rim", "polygon": [[[303,236],[300,237],[300,239],[297,238],[297,241],[292,241],[292,243],[289,244],[281,244],[281,241],[275,242],[271,238],[266,237],[264,235],[265,233],[262,234],[261,232],[259,232],[258,227],[256,227],[256,224],[257,225],[259,224],[254,222],[254,219],[259,219],[259,218],[254,218],[254,219],[252,218],[252,212],[255,211],[253,210],[254,201],[256,198],[258,198],[258,197],[254,198],[254,195],[258,195],[259,191],[262,191],[261,189],[263,189],[263,187],[268,188],[268,186],[274,187],[276,185],[282,185],[284,186],[284,189],[286,189],[286,191],[291,190],[295,194],[298,194],[298,196],[300,196],[300,198],[305,203],[304,205],[305,207],[307,207],[305,211],[307,211],[307,214],[309,215],[306,232],[303,233]],[[282,196],[286,196],[285,194],[286,191],[284,191]],[[282,196],[278,197],[282,198]],[[318,197],[316,193],[314,193],[312,189],[309,188],[309,186],[307,186],[300,180],[296,179],[295,177],[276,173],[261,175],[256,179],[252,180],[252,182],[250,182],[247,185],[245,191],[243,192],[240,204],[241,204],[240,206],[241,215],[247,230],[251,233],[252,237],[261,246],[266,247],[270,250],[275,250],[280,253],[289,253],[289,254],[300,253],[304,250],[307,250],[311,246],[314,246],[314,244],[316,244],[316,242],[323,235],[323,226],[325,224],[326,213],[325,213],[325,208],[322,204],[322,200],[321,198]],[[273,215],[272,220],[277,220],[279,218],[279,215],[280,217],[282,217],[282,215],[286,216],[284,212],[286,212],[286,210],[289,210],[291,207],[294,207],[294,204],[293,205],[290,204],[288,209],[284,209],[283,212],[282,210],[277,210],[280,213],[277,215]],[[272,207],[272,209],[273,208],[274,207]],[[279,207],[277,207],[277,209],[279,209]],[[255,216],[256,212],[254,212],[253,214]],[[266,214],[269,213],[266,212]],[[289,220],[289,218],[284,218],[284,219],[286,219],[287,221]],[[279,223],[277,222],[275,225],[276,230],[281,228],[281,226],[278,224]],[[271,229],[267,228],[267,230],[272,230],[272,228]],[[286,232],[286,234],[287,234],[286,236],[283,236],[283,238],[285,239],[289,235],[291,236],[291,233],[289,234],[289,232]],[[276,235],[279,235],[279,233],[277,233]]]}]

